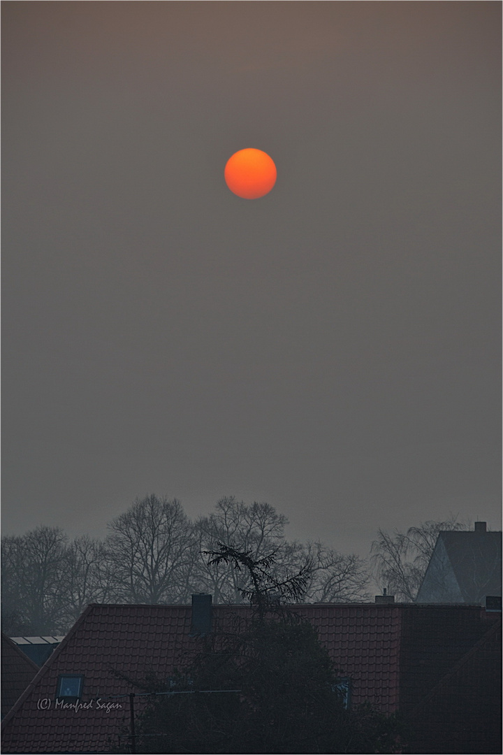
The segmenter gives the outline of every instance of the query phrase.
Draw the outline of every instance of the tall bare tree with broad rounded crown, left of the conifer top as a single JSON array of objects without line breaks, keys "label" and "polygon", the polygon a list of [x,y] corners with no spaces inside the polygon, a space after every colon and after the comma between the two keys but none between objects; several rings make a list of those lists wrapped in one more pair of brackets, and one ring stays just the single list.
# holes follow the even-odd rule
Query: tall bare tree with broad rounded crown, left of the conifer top
[{"label": "tall bare tree with broad rounded crown, left of the conifer top", "polygon": [[174,498],[149,495],[109,523],[105,541],[115,599],[133,603],[189,602],[198,557],[192,522]]}]

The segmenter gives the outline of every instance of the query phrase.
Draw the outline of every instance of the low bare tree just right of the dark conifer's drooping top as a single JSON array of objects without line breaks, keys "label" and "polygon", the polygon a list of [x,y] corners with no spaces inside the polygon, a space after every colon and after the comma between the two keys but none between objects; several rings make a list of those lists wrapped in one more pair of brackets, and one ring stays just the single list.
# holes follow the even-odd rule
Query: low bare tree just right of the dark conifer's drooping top
[{"label": "low bare tree just right of the dark conifer's drooping top", "polygon": [[354,553],[345,555],[320,541],[308,543],[311,564],[305,589],[306,602],[365,602],[370,574],[367,563]]}]

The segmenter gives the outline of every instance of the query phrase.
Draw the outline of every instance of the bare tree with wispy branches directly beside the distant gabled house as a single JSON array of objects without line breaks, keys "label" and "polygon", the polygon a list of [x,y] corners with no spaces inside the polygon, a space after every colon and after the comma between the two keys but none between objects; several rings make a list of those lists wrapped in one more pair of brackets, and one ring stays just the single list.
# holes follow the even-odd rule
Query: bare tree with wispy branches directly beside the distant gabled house
[{"label": "bare tree with wispy branches directly beside the distant gabled house", "polygon": [[374,573],[380,587],[387,587],[397,599],[414,602],[422,578],[431,559],[440,530],[468,529],[451,516],[444,522],[422,522],[409,527],[406,533],[391,534],[379,529],[379,538],[372,544]]}]

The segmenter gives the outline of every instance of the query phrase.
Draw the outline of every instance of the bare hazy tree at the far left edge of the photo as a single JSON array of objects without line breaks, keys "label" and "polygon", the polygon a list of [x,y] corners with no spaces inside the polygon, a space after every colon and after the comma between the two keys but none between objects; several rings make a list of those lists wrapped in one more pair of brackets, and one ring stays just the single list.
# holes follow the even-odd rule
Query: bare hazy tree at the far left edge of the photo
[{"label": "bare hazy tree at the far left edge of the photo", "polygon": [[66,632],[67,540],[62,529],[47,526],[2,538],[5,631],[17,627],[32,635]]}]

